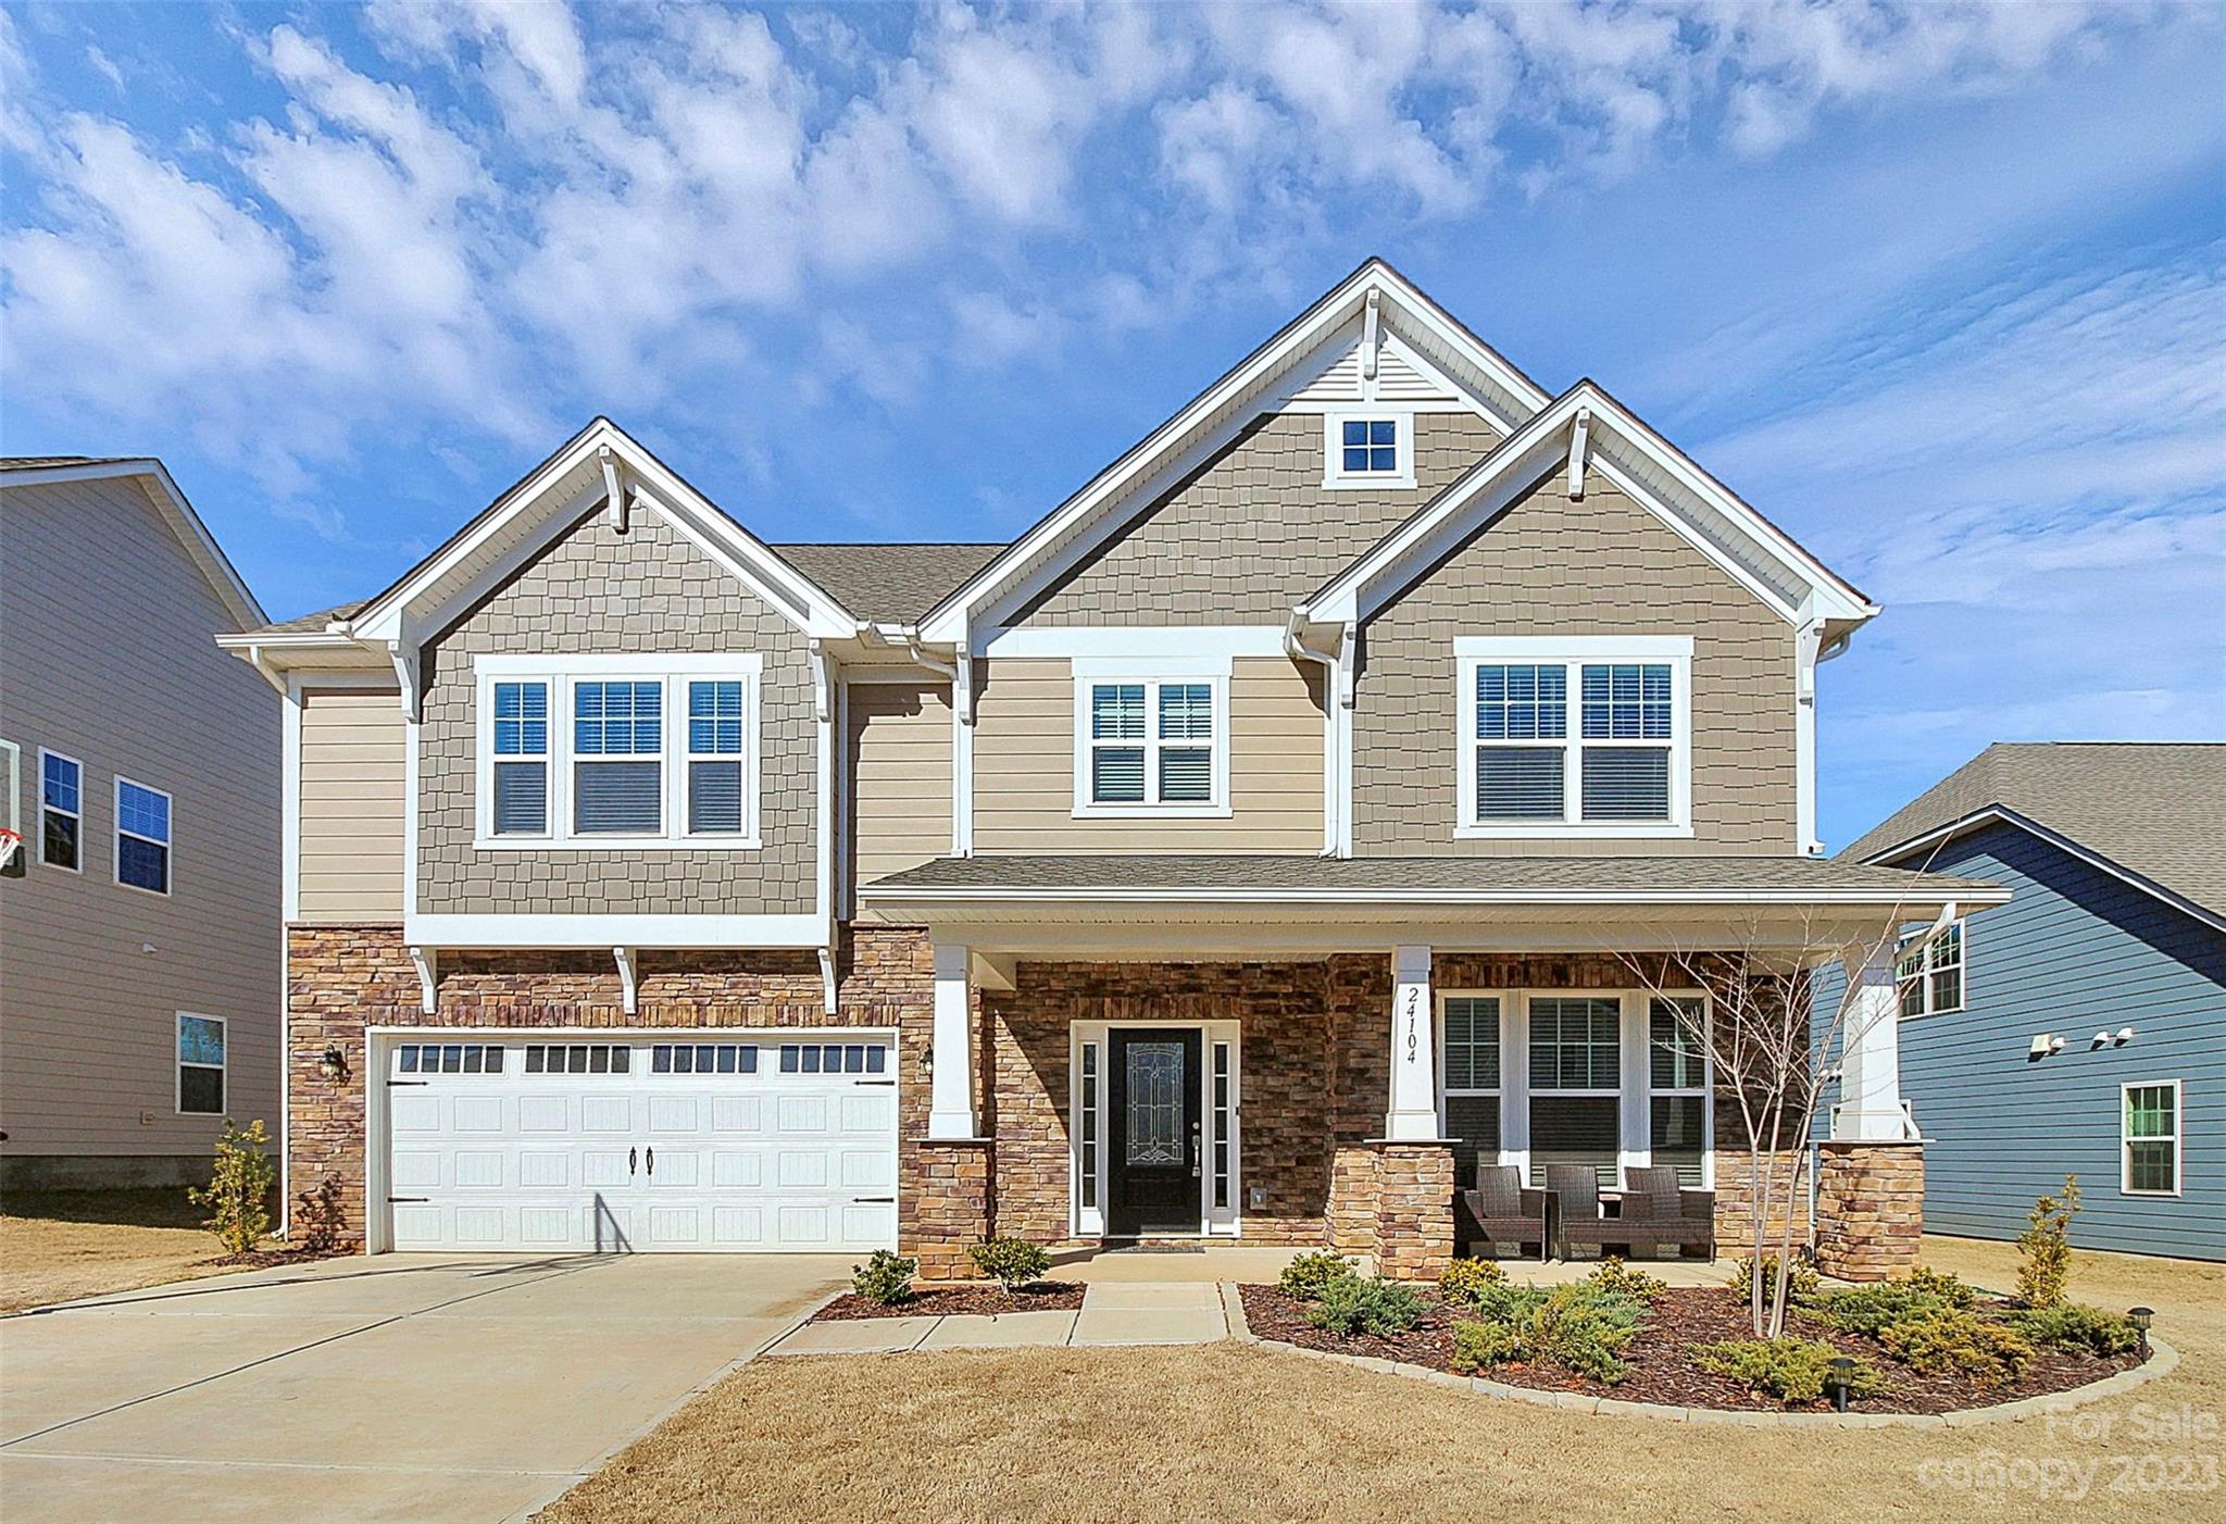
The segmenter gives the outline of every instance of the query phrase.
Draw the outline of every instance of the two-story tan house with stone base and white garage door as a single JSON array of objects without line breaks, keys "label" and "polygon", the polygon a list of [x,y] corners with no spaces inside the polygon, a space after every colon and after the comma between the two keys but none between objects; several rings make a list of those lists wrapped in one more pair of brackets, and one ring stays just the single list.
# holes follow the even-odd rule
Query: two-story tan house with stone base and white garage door
[{"label": "two-story tan house with stone base and white garage door", "polygon": [[1877,607],[1594,383],[1371,260],[1011,545],[746,521],[597,420],[227,641],[285,692],[289,1193],[372,1250],[1425,1275],[1478,1161],[1736,1217],[1670,952],[1859,970],[1821,1239],[1910,1250],[1892,928],[2001,894],[1819,857]]}]

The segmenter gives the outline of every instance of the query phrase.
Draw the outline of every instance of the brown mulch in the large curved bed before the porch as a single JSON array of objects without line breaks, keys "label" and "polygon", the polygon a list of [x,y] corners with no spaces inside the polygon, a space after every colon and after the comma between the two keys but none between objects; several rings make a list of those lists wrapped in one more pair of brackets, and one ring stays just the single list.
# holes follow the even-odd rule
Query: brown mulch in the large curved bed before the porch
[{"label": "brown mulch in the large curved bed before the porch", "polygon": [[[1376,1355],[1378,1359],[1398,1359],[1411,1366],[1429,1366],[1431,1370],[1454,1368],[1454,1324],[1460,1319],[1460,1313],[1458,1308],[1447,1308],[1429,1293],[1422,1295],[1422,1322],[1389,1339],[1378,1339],[1373,1335],[1347,1337],[1316,1328],[1307,1322],[1304,1304],[1287,1297],[1275,1286],[1240,1286],[1238,1293],[1244,1297],[1244,1322],[1251,1324],[1251,1330],[1262,1339],[1280,1339],[1300,1348],[1331,1350],[1338,1355]],[[1988,1310],[1988,1304],[1981,1304],[1979,1310]],[[1986,1408],[1997,1402],[2015,1402],[2019,1397],[2039,1397],[2043,1393],[2088,1386],[2090,1382],[2099,1382],[2117,1370],[2130,1370],[2141,1364],[2139,1355],[2117,1355],[2106,1359],[2084,1350],[2039,1346],[2032,1364],[2026,1366],[2026,1373],[2017,1382],[2008,1382],[2003,1386],[1981,1386],[1961,1373],[1925,1375],[1912,1370],[1894,1359],[1894,1355],[1890,1355],[1874,1339],[1839,1333],[1801,1310],[1794,1310],[1787,1317],[1787,1333],[1803,1339],[1825,1339],[1848,1355],[1861,1355],[1885,1375],[1892,1391],[1879,1397],[1856,1399],[1852,1404],[1852,1411],[1856,1413],[1954,1413],[1961,1408]],[[1781,1404],[1776,1397],[1747,1391],[1732,1377],[1703,1368],[1692,1353],[1694,1344],[1750,1337],[1754,1337],[1754,1326],[1747,1319],[1747,1302],[1741,1293],[1718,1288],[1681,1288],[1667,1290],[1654,1302],[1654,1317],[1623,1357],[1629,1366],[1629,1375],[1614,1386],[1592,1382],[1547,1364],[1496,1366],[1483,1375],[1494,1382],[1505,1382],[1507,1386],[1618,1397],[1623,1402],[1661,1402],[1681,1408],[1732,1408],[1752,1413],[1832,1411],[1830,1399],[1812,1404]]]}]

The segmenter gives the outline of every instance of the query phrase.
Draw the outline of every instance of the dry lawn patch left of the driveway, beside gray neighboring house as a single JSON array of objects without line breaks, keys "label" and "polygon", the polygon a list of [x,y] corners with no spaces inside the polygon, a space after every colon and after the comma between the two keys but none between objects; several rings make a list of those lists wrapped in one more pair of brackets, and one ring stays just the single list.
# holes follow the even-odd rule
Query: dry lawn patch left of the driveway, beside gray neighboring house
[{"label": "dry lawn patch left of the driveway, beside gray neighboring house", "polygon": [[9,1190],[0,1199],[0,1313],[160,1286],[225,1266],[183,1190]]}]

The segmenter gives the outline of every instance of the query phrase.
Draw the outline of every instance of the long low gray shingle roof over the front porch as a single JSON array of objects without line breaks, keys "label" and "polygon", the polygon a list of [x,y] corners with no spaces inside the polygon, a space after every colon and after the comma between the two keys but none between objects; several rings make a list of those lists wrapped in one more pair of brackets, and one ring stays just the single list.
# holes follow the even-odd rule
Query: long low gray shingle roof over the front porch
[{"label": "long low gray shingle roof over the front porch", "polygon": [[1988,888],[1974,879],[1819,857],[939,857],[861,885],[890,890],[1129,892],[1908,892]]}]

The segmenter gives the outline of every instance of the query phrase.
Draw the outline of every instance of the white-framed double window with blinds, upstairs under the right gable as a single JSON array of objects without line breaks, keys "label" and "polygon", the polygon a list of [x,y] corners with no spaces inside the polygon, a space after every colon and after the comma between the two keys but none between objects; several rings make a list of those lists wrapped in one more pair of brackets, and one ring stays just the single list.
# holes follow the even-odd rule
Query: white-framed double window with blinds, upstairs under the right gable
[{"label": "white-framed double window with blinds, upstairs under the right gable", "polygon": [[1460,837],[1692,834],[1692,636],[1460,636]]}]

